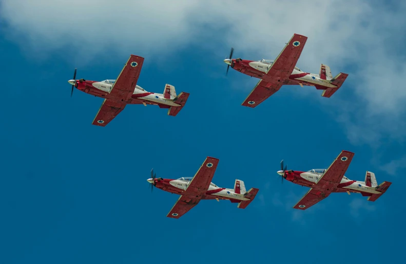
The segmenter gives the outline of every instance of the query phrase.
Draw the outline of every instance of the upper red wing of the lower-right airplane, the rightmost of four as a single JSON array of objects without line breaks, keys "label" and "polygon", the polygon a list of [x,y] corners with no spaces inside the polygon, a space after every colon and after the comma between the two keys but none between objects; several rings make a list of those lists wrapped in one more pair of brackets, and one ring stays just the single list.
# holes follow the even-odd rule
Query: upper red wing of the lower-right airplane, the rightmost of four
[{"label": "upper red wing of the lower-right airplane, the rightmost of four", "polygon": [[353,157],[353,152],[346,150],[341,151],[337,159],[335,159],[330,167],[328,167],[322,177],[317,180],[316,184],[319,186],[319,188],[331,189],[332,187],[334,188],[337,186],[341,182],[341,179],[344,176],[345,171],[347,171],[348,166],[350,166]]}]

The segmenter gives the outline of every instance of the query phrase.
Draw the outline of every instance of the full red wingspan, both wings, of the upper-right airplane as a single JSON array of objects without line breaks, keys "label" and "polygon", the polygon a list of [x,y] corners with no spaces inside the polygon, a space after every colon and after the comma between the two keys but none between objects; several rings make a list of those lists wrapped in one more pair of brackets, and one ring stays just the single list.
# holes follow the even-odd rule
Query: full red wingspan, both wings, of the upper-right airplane
[{"label": "full red wingspan, both wings, of the upper-right airplane", "polygon": [[270,66],[264,76],[265,81],[259,81],[254,90],[242,103],[244,106],[256,107],[269,96],[275,94],[283,82],[289,78],[302,53],[307,37],[294,34],[274,63]]}]

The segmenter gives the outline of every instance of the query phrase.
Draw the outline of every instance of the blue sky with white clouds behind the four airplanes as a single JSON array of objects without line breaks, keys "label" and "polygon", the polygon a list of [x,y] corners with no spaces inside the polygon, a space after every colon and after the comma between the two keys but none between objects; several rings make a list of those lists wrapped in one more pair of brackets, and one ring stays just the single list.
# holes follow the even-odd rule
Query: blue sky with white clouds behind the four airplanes
[{"label": "blue sky with white clouds behind the four airplanes", "polygon": [[[401,261],[404,3],[123,1],[111,12],[108,2],[23,2],[0,1],[0,263]],[[284,86],[255,109],[241,106],[257,80],[232,69],[225,77],[230,47],[273,59],[293,33],[309,37],[300,69],[325,63],[349,78],[330,99]],[[67,80],[74,68],[78,78],[116,78],[131,53],[145,57],[138,85],[175,85],[190,93],[186,106],[170,117],[129,105],[108,126],[91,125],[103,100],[78,90],[70,98]],[[308,189],[281,185],[280,161],[327,168],[342,149],[355,152],[347,177],[370,170],[390,189],[374,203],[337,193],[292,209]],[[254,202],[202,201],[165,217],[178,196],[150,192],[151,168],[190,177],[207,156],[220,159],[214,183],[241,179],[260,189]]]}]

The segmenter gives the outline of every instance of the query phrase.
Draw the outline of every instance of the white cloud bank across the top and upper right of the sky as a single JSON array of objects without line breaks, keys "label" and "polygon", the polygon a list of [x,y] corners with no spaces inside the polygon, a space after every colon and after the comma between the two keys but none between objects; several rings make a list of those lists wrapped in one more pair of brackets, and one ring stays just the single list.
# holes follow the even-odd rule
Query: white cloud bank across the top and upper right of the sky
[{"label": "white cloud bank across the top and upper right of the sky", "polygon": [[334,100],[315,100],[336,105],[333,115],[353,143],[375,144],[405,135],[405,12],[404,1],[391,9],[366,0],[3,0],[0,17],[22,48],[42,56],[63,51],[75,62],[106,51],[163,56],[190,43],[221,59],[225,51],[214,43],[234,46],[238,57],[275,58],[293,33],[306,35],[301,69],[350,69]]}]

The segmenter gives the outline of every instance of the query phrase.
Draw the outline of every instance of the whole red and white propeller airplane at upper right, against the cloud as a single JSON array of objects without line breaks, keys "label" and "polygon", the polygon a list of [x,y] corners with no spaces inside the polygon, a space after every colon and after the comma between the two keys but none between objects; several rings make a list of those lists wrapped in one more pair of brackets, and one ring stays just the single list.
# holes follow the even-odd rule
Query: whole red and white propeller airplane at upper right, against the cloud
[{"label": "whole red and white propeller airplane at upper right, against the cloud", "polygon": [[224,60],[228,64],[227,73],[231,66],[234,70],[261,79],[242,105],[254,108],[278,92],[282,85],[315,86],[323,90],[321,96],[324,97],[332,96],[341,87],[348,74],[339,73],[333,78],[330,67],[324,64],[321,64],[319,74],[305,73],[296,67],[306,40],[307,37],[294,34],[275,60],[231,59],[234,51],[231,48],[229,59]]}]

